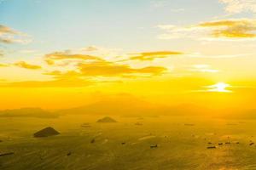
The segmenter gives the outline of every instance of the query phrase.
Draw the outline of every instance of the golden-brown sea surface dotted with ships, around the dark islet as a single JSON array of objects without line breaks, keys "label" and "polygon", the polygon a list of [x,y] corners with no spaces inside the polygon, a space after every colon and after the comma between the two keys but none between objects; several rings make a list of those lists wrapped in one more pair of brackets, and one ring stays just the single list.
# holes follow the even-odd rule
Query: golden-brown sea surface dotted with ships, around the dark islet
[{"label": "golden-brown sea surface dotted with ships, around the dark islet", "polygon": [[[223,120],[189,121],[183,118],[151,117],[136,126],[136,118],[118,123],[96,123],[97,117],[73,119],[0,120],[2,169],[256,169],[255,122]],[[68,121],[68,124],[67,124]],[[36,123],[35,123],[36,122]],[[81,127],[90,122],[90,127]],[[18,131],[9,131],[9,127]],[[34,139],[42,127],[55,127],[61,134]],[[93,141],[93,142],[91,142]],[[211,148],[211,149],[209,149]]]}]

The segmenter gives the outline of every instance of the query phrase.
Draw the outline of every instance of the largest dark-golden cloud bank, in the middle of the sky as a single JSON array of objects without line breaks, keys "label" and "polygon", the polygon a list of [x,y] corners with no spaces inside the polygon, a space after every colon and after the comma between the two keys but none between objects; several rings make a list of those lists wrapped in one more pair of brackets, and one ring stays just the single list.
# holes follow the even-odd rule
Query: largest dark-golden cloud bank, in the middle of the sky
[{"label": "largest dark-golden cloud bank, in the middle of the sky", "polygon": [[144,76],[160,76],[167,69],[162,66],[145,66],[141,68],[132,68],[130,65],[117,64],[107,60],[95,60],[91,62],[78,61],[74,68],[69,71],[49,71],[44,75],[51,76],[57,80],[75,80],[88,79],[96,77],[113,77],[113,78],[136,78]]}]

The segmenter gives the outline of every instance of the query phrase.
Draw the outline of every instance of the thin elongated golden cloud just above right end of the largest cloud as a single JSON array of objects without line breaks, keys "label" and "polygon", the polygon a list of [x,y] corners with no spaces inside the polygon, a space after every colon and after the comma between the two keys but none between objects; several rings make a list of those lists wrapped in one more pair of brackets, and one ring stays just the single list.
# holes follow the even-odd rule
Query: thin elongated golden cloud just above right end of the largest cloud
[{"label": "thin elongated golden cloud just above right end of the largest cloud", "polygon": [[157,52],[145,52],[137,54],[136,56],[132,56],[130,59],[135,60],[154,60],[159,58],[166,58],[170,55],[180,55],[182,52],[176,51],[157,51]]}]

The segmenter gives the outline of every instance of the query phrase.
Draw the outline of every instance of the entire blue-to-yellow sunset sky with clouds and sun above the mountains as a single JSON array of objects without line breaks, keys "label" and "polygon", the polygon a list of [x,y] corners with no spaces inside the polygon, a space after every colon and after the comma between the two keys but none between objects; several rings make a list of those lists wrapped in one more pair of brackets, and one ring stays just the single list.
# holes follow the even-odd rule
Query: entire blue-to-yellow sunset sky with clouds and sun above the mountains
[{"label": "entire blue-to-yellow sunset sky with clouds and sun above the mountains", "polygon": [[0,109],[253,108],[255,16],[255,0],[0,0]]}]

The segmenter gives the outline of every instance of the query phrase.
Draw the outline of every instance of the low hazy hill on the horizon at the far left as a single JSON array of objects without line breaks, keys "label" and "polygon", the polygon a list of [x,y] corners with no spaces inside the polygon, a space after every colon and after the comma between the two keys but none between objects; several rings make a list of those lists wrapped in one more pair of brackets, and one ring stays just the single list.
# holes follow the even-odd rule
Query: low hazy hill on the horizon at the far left
[{"label": "low hazy hill on the horizon at the far left", "polygon": [[58,115],[40,108],[21,108],[14,110],[0,111],[0,117],[36,117],[36,118],[56,118]]}]

